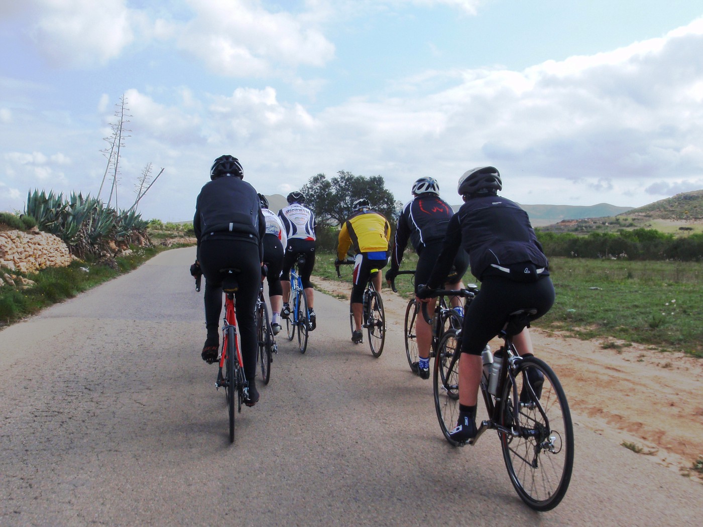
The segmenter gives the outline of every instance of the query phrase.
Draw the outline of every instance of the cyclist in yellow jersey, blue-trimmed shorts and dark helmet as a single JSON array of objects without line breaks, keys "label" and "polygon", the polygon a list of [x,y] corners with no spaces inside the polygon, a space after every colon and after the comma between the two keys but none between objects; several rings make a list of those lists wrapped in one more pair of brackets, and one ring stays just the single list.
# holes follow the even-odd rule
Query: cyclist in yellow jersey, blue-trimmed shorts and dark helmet
[{"label": "cyclist in yellow jersey, blue-trimmed shorts and dark helmet", "polygon": [[[342,223],[337,260],[340,263],[347,256],[350,247],[354,248],[354,273],[352,275],[352,313],[354,313],[354,333],[352,341],[361,342],[361,318],[363,316],[363,290],[372,269],[382,269],[388,261],[391,226],[385,216],[370,209],[368,200],[356,200],[352,206],[354,214]],[[381,273],[373,278],[377,291],[381,290]]]}]

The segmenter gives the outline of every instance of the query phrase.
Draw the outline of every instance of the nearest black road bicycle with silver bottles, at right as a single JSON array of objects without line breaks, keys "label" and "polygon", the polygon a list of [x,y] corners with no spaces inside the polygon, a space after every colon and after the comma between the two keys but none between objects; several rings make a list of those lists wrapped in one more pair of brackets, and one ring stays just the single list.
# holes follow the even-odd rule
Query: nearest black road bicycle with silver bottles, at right
[{"label": "nearest black road bicycle with silver bottles, at right", "polygon": [[[440,290],[434,294],[459,294],[470,301],[477,290]],[[484,419],[474,445],[486,430],[496,430],[510,482],[520,498],[536,511],[548,511],[567,492],[574,467],[574,429],[569,404],[553,370],[536,357],[522,358],[512,337],[534,318],[534,308],[508,315],[498,337],[503,346],[493,355],[482,353],[481,393],[488,419]],[[423,316],[429,319],[423,304]],[[458,361],[461,330],[447,330],[434,360],[434,406],[444,437],[456,425],[459,407]]]}]

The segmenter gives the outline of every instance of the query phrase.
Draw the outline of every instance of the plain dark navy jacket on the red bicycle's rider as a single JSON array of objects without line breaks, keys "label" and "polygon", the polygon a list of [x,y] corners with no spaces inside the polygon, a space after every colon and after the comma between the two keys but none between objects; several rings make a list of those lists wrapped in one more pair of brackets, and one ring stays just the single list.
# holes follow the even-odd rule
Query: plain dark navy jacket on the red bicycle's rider
[{"label": "plain dark navy jacket on the red bicycle's rider", "polygon": [[198,248],[203,240],[247,240],[259,245],[264,258],[266,220],[257,191],[235,176],[223,176],[205,183],[195,202],[193,229]]}]

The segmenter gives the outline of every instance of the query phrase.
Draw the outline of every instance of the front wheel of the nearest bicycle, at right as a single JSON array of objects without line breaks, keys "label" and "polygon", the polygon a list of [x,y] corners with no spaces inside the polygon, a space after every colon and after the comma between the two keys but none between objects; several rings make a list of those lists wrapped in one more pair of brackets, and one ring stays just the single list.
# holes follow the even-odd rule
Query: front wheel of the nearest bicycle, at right
[{"label": "front wheel of the nearest bicycle, at right", "polygon": [[434,410],[437,410],[439,428],[452,445],[459,443],[449,437],[459,417],[459,356],[460,338],[455,330],[448,330],[437,345],[434,358]]}]

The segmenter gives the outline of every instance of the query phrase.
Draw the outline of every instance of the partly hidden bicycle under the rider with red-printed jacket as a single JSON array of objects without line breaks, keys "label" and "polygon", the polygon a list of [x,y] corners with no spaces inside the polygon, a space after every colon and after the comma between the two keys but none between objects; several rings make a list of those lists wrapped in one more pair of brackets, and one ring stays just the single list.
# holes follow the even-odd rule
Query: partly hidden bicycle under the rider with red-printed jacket
[{"label": "partly hidden bicycle under the rider with red-printed jacket", "polygon": [[[412,275],[413,280],[415,277],[415,271],[399,271],[397,275]],[[397,276],[396,275],[396,276]],[[469,285],[472,286],[472,284]],[[393,292],[398,292],[395,285],[395,279],[391,280],[391,289]],[[408,306],[405,309],[405,323],[404,323],[404,340],[405,340],[405,354],[408,359],[408,365],[410,365],[411,370],[413,369],[413,363],[417,365],[418,360],[420,360],[420,354],[418,353],[418,339],[417,331],[415,330],[415,320],[420,316],[420,302],[418,302],[415,295],[408,300]],[[432,315],[432,345],[430,346],[430,358],[437,354],[437,345],[441,339],[444,332],[449,329],[460,329],[462,324],[462,316],[457,313],[451,306],[447,305],[446,297],[439,297],[439,301],[434,306],[434,315]]]}]

